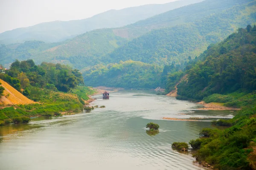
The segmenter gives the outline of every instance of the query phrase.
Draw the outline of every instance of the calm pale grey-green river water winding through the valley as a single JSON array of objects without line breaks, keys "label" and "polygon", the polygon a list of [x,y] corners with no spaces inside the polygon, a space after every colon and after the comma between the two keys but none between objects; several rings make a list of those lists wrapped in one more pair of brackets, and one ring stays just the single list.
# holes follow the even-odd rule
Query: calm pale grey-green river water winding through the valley
[{"label": "calm pale grey-green river water winding through the valley", "polygon": [[[101,95],[94,96],[100,98]],[[163,117],[231,118],[234,112],[197,111],[192,102],[147,91],[120,91],[90,113],[33,119],[27,125],[0,127],[0,170],[203,170],[190,153],[172,150],[189,142],[209,121],[163,120]],[[160,125],[148,134],[145,125]]]}]

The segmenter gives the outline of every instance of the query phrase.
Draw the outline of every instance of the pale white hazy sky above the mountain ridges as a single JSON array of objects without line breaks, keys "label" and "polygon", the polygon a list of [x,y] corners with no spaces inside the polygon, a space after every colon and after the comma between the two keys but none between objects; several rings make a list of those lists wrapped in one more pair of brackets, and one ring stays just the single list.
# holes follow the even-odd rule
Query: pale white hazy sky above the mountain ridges
[{"label": "pale white hazy sky above the mountain ridges", "polygon": [[79,20],[110,9],[175,0],[0,0],[0,33],[55,20]]}]

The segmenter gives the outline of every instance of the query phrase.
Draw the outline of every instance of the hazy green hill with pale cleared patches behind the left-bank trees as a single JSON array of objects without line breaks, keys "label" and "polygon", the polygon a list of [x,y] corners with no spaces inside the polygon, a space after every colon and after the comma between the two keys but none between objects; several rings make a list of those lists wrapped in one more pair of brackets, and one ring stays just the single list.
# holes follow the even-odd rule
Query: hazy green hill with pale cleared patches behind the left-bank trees
[{"label": "hazy green hill with pale cleared patches behind the left-bank trees", "polygon": [[[61,43],[26,41],[22,44],[0,45],[0,63],[14,59],[34,59],[84,68],[101,63],[101,57],[124,45],[125,38],[117,37],[110,28],[94,30]],[[7,65],[6,65],[7,66]]]}]

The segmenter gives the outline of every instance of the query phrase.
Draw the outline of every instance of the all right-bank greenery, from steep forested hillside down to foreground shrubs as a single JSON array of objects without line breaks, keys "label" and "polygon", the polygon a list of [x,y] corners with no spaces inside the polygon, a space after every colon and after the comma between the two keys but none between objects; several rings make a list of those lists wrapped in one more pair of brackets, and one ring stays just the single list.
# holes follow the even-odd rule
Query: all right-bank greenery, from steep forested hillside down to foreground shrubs
[{"label": "all right-bank greenery, from steep forested hillside down to foreground shrubs", "polygon": [[239,28],[226,40],[210,45],[196,64],[186,68],[187,79],[177,86],[179,99],[223,103],[242,108],[233,119],[213,121],[225,130],[203,129],[189,144],[197,161],[218,170],[256,167],[256,26]]}]

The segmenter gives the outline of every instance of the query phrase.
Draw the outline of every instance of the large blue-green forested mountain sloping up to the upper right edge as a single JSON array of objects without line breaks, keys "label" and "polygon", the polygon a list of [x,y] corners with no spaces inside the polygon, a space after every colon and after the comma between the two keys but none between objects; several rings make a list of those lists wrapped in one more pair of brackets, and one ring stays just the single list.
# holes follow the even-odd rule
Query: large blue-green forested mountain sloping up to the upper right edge
[{"label": "large blue-green forested mountain sloping up to the upper right edge", "polygon": [[103,61],[132,59],[163,65],[171,64],[172,61],[180,62],[189,56],[194,58],[208,45],[223,40],[237,28],[255,23],[255,11],[256,1],[251,0],[250,3],[233,6],[193,23],[157,29],[117,48]]}]

